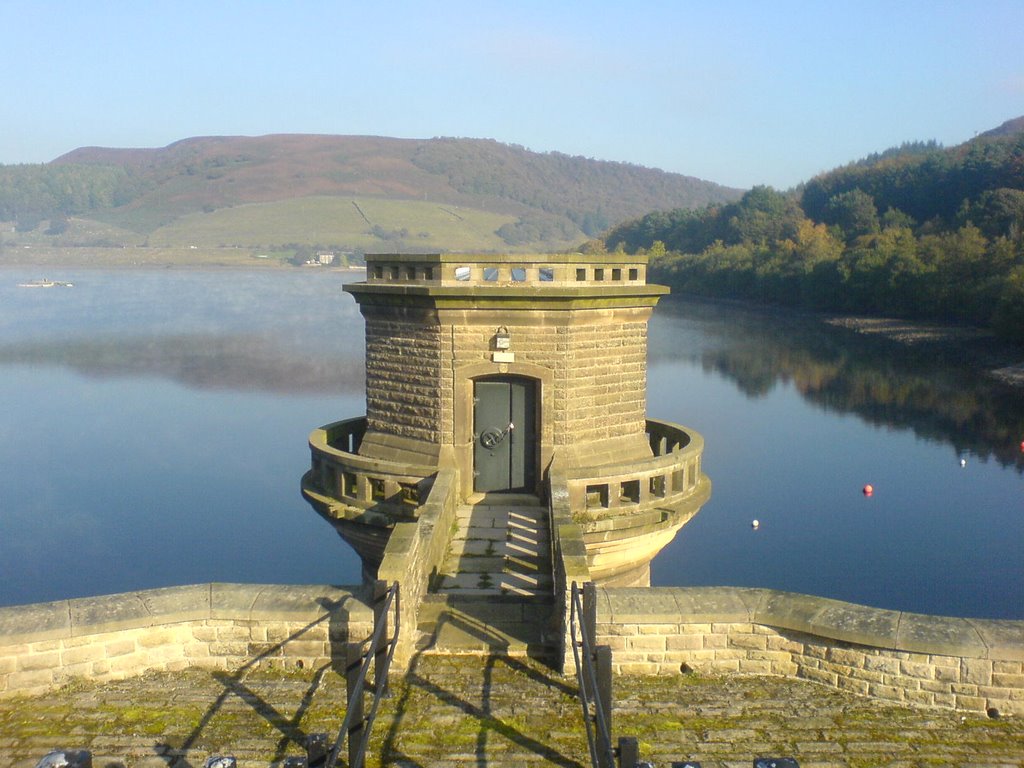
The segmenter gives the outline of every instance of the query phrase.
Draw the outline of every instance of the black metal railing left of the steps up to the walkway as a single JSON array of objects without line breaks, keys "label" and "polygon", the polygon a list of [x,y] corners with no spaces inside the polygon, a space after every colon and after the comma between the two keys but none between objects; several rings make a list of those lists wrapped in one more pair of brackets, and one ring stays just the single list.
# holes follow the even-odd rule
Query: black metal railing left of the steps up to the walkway
[{"label": "black metal railing left of the steps up to the walkway", "polygon": [[[394,633],[387,637],[388,615],[394,604]],[[327,768],[334,768],[338,763],[341,748],[348,741],[349,768],[362,768],[370,743],[370,733],[373,730],[374,719],[381,698],[387,689],[387,673],[391,667],[395,646],[398,644],[398,632],[401,629],[399,611],[398,583],[390,587],[384,582],[377,582],[374,588],[374,634],[366,650],[354,658],[349,658],[345,668],[345,688],[348,693],[348,705],[345,708],[345,719],[338,729],[334,746],[324,763]],[[373,699],[370,712],[366,714],[364,695],[366,693],[367,677],[370,666],[374,667]]]}]

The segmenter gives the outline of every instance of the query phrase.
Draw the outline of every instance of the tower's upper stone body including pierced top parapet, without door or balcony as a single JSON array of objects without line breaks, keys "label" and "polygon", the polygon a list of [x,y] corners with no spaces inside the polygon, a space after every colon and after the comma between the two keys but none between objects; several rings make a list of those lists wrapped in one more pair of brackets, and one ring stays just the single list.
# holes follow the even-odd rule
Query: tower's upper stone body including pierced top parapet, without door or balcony
[{"label": "tower's upper stone body including pierced top parapet, without door or balcony", "polygon": [[645,284],[642,261],[590,258],[368,257],[367,282],[345,289],[366,318],[359,455],[471,467],[474,382],[505,376],[538,382],[542,472],[649,457],[647,322],[666,289]]}]

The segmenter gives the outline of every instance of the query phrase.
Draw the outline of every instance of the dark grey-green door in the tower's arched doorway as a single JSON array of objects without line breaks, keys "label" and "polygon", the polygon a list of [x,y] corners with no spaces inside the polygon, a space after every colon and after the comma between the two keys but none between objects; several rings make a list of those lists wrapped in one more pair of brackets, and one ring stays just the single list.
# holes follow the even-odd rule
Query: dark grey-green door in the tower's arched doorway
[{"label": "dark grey-green door in the tower's arched doorway", "polygon": [[537,382],[495,377],[473,382],[473,490],[537,489]]}]

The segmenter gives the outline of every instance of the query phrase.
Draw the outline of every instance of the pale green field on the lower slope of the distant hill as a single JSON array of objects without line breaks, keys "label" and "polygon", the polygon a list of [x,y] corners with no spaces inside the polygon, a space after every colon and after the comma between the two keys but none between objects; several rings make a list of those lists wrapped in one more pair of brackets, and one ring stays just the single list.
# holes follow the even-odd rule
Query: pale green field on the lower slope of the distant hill
[{"label": "pale green field on the lower slope of the distant hill", "polygon": [[[188,214],[155,230],[148,243],[249,248],[317,243],[362,251],[509,250],[495,230],[515,220],[509,214],[427,201],[314,197]],[[545,247],[571,245],[546,243]]]}]

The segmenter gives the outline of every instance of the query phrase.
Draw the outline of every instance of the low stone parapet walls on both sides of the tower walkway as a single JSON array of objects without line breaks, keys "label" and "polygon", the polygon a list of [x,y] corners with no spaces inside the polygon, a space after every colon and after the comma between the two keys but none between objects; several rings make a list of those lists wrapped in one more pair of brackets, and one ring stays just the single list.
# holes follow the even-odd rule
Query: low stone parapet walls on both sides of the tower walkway
[{"label": "low stone parapet walls on both sides of the tower walkway", "polygon": [[[1024,715],[1024,622],[929,616],[774,590],[596,588],[616,674],[774,675],[889,701]],[[338,664],[361,587],[204,584],[0,608],[0,696],[148,671]]]}]

